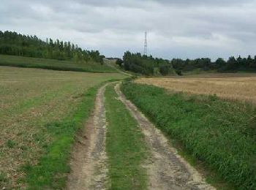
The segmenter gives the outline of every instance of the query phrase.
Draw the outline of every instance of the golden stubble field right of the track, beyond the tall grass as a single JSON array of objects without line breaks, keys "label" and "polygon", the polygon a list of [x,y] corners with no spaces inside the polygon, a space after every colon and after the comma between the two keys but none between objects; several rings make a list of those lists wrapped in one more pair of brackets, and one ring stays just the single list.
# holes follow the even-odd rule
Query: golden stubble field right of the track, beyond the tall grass
[{"label": "golden stubble field right of the track, beyond the tall grass", "polygon": [[256,102],[255,74],[208,74],[187,77],[140,78],[137,83],[151,84],[170,91],[189,94],[217,94],[224,99]]}]

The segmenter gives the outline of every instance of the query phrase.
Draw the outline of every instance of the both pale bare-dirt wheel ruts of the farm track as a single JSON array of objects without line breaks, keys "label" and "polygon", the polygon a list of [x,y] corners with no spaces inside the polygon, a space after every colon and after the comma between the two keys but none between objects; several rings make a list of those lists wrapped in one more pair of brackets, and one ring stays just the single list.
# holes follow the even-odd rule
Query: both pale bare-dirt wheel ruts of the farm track
[{"label": "both pale bare-dirt wheel ruts of the farm track", "polygon": [[[166,137],[124,97],[119,84],[115,89],[145,135],[149,156],[143,167],[148,174],[148,189],[214,189],[187,161],[178,156]],[[108,189],[110,185],[105,153],[107,123],[104,92],[105,86],[99,88],[94,115],[75,142],[67,189]]]}]

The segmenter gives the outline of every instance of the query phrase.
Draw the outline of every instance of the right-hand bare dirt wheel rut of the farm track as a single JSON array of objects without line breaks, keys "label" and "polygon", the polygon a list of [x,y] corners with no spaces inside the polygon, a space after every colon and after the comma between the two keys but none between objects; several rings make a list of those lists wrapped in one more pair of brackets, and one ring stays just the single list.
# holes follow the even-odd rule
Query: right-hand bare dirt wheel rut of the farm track
[{"label": "right-hand bare dirt wheel rut of the farm track", "polygon": [[148,173],[148,189],[214,189],[197,170],[178,155],[162,132],[125,98],[119,86],[119,83],[115,86],[116,93],[138,121],[150,152],[144,164]]}]

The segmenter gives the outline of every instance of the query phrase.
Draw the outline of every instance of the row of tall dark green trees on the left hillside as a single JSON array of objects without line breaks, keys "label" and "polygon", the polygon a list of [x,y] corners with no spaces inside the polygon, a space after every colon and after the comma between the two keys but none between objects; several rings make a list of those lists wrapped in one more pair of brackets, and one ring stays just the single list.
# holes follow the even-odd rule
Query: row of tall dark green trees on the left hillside
[{"label": "row of tall dark green trees on the left hillside", "polygon": [[104,58],[98,50],[83,50],[78,45],[59,39],[43,41],[37,36],[18,34],[15,31],[0,31],[0,54],[77,62],[96,61],[101,64]]}]

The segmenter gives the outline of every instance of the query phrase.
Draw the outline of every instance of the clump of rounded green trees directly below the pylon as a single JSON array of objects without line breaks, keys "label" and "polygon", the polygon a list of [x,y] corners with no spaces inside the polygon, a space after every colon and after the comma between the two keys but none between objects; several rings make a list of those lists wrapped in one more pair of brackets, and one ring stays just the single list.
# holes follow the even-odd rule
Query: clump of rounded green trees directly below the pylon
[{"label": "clump of rounded green trees directly below the pylon", "polygon": [[173,67],[169,61],[152,56],[141,56],[140,53],[124,53],[124,69],[143,75],[170,75]]}]

